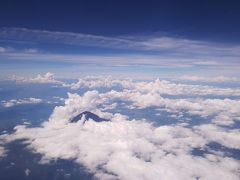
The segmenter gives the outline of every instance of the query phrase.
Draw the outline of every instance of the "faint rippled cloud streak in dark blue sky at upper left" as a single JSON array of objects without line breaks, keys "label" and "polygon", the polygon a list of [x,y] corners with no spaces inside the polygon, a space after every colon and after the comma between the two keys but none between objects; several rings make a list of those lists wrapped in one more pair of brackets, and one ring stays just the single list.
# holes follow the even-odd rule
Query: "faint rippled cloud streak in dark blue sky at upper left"
[{"label": "faint rippled cloud streak in dark blue sky at upper left", "polygon": [[110,48],[129,48],[131,40],[96,36],[72,32],[52,32],[26,28],[1,28],[0,38],[3,40],[30,41],[39,43],[61,43],[69,45],[100,46]]}]

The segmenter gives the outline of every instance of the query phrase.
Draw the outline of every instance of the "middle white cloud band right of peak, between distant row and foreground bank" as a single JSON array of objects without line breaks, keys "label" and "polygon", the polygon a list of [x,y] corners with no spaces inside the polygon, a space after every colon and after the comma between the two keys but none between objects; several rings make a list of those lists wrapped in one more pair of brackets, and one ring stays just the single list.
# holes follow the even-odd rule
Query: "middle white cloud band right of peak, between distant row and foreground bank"
[{"label": "middle white cloud band right of peak, between distant row and foreground bank", "polygon": [[240,117],[240,100],[231,99],[169,99],[156,92],[141,93],[140,91],[111,91],[101,95],[109,100],[132,102],[135,108],[161,107],[170,112],[186,111],[189,115],[202,117],[214,116],[213,123],[232,125]]}]

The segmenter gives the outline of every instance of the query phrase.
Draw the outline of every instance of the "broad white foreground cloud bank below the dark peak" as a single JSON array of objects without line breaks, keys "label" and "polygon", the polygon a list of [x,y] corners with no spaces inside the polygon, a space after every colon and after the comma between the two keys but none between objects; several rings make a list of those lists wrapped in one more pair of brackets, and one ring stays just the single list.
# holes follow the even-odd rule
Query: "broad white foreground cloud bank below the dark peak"
[{"label": "broad white foreground cloud bank below the dark peak", "polygon": [[115,114],[111,122],[19,126],[13,138],[28,138],[29,148],[44,155],[42,163],[75,159],[100,179],[237,179],[233,172],[239,164],[234,159],[191,154],[211,140],[205,136],[181,126],[156,128]]}]

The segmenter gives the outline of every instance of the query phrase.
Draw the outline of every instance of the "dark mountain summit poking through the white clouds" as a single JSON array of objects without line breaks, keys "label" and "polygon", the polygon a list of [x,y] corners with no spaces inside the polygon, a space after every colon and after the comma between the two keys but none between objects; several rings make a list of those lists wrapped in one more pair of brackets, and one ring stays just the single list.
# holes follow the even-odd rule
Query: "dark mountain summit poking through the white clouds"
[{"label": "dark mountain summit poking through the white clouds", "polygon": [[102,122],[102,121],[109,121],[107,119],[103,119],[103,118],[100,118],[98,115],[94,114],[94,113],[91,113],[89,111],[84,111],[82,113],[80,113],[79,115],[75,116],[74,118],[72,118],[70,120],[70,122],[78,122],[79,120],[82,119],[82,117],[85,117],[85,120],[83,123],[85,123],[86,121],[88,121],[89,119],[92,119],[96,122]]}]

